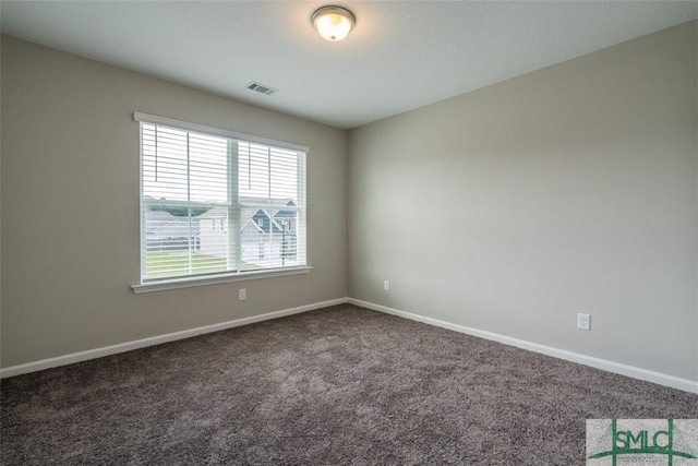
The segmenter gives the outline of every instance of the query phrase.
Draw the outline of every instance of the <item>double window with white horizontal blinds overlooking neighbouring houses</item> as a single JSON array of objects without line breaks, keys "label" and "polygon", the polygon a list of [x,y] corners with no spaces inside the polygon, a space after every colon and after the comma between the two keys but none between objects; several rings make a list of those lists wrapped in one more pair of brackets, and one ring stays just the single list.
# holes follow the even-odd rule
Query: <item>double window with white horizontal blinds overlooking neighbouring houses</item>
[{"label": "double window with white horizontal blinds overlooking neighbouring houses", "polygon": [[305,147],[144,113],[134,119],[142,285],[308,268]]}]

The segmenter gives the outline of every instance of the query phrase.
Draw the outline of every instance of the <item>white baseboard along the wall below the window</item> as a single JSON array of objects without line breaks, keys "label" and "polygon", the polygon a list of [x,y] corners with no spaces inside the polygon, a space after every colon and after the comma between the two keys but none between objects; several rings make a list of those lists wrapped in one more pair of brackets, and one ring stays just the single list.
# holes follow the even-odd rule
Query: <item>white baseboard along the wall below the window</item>
[{"label": "white baseboard along the wall below the window", "polygon": [[268,321],[272,319],[282,318],[285,315],[300,314],[301,312],[313,311],[315,309],[326,308],[328,306],[342,304],[348,302],[347,298],[332,299],[329,301],[315,302],[312,304],[300,306],[298,308],[282,309],[280,311],[267,312],[250,318],[236,319],[228,322],[221,322],[213,325],[200,326],[196,328],[184,330],[181,332],[167,333],[165,335],[152,336],[148,338],[136,339],[133,342],[120,343],[118,345],[104,346],[101,348],[88,349],[86,351],[72,353],[70,355],[58,356],[55,358],[41,359],[39,361],[27,362],[25,365],[11,366],[0,369],[0,379],[13,375],[21,375],[28,372],[36,372],[44,369],[57,368],[59,366],[82,362],[88,359],[101,358],[104,356],[116,355],[118,353],[131,351],[133,349],[145,348],[146,346],[159,345],[163,343],[174,342],[177,339],[190,338],[196,335],[218,332],[226,328],[232,328],[241,325],[248,325],[255,322]]}]

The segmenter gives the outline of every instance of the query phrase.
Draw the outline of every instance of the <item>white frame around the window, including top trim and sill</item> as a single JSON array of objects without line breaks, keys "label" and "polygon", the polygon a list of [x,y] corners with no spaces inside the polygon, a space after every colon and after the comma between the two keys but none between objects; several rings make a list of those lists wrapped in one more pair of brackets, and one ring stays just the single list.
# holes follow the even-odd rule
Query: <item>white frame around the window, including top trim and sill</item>
[{"label": "white frame around the window, including top trim and sill", "polygon": [[[144,280],[145,274],[144,274],[143,267],[145,267],[145,263],[143,262],[143,258],[142,258],[142,248],[143,248],[143,241],[144,241],[144,226],[145,226],[144,204],[145,202],[143,198],[143,158],[142,158],[143,147],[142,147],[141,123],[169,127],[169,128],[174,128],[183,131],[197,132],[197,133],[209,134],[214,136],[231,139],[236,141],[258,143],[258,144],[264,144],[267,146],[278,147],[282,150],[302,152],[305,154],[305,160],[310,151],[309,151],[309,147],[299,145],[299,144],[275,141],[267,138],[239,133],[234,131],[207,127],[207,126],[197,124],[197,123],[190,123],[185,121],[174,120],[171,118],[143,113],[140,111],[133,112],[133,120],[139,123],[139,215],[140,215],[139,261],[141,262],[140,283],[131,286],[131,288],[133,289],[133,292],[141,294],[141,292],[160,291],[166,289],[186,288],[186,287],[194,287],[194,286],[214,285],[214,284],[240,282],[240,280],[249,280],[249,279],[257,279],[257,278],[266,278],[266,277],[308,274],[313,270],[311,265],[308,265],[308,256],[306,256],[308,228],[305,227],[305,238],[304,238],[305,241],[302,244],[303,253],[305,254],[305,265],[261,268],[261,270],[254,270],[254,271],[231,271],[227,273],[224,272],[224,273],[210,274],[210,275],[192,275],[192,276],[179,276],[173,278],[163,278],[163,279],[156,279],[156,280]],[[237,160],[238,159],[236,158],[236,162]],[[299,212],[300,212],[300,215],[303,216],[303,218],[298,218],[297,222],[300,220],[306,224],[305,212],[308,210],[308,202],[306,202],[308,178],[306,178],[305,166],[303,168],[305,169],[305,174],[303,174],[304,182],[301,187],[299,187],[299,198],[301,198],[299,201],[301,201],[304,205],[304,208],[302,210],[302,212],[301,211]],[[239,200],[236,200],[236,202],[239,205]],[[191,202],[185,202],[185,203],[191,204]]]}]

